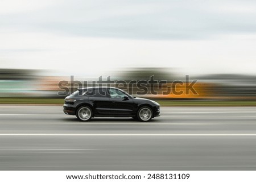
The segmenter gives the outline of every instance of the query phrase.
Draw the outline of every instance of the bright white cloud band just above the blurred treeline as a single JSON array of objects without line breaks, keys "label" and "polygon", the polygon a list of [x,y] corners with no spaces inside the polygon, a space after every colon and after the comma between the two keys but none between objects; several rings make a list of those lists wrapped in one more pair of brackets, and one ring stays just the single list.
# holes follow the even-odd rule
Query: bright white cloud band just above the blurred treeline
[{"label": "bright white cloud band just above the blurred treeline", "polygon": [[256,34],[166,41],[14,32],[0,34],[0,40],[1,68],[57,69],[69,75],[100,76],[129,67],[174,67],[182,68],[184,74],[255,75]]}]

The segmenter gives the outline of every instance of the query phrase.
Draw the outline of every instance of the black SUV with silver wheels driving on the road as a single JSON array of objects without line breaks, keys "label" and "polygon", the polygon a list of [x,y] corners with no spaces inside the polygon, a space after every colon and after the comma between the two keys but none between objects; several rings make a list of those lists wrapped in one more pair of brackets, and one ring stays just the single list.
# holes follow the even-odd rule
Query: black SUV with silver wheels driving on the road
[{"label": "black SUV with silver wheels driving on the road", "polygon": [[81,88],[65,98],[64,113],[80,121],[92,117],[133,117],[150,121],[160,114],[160,105],[145,98],[133,97],[113,87]]}]

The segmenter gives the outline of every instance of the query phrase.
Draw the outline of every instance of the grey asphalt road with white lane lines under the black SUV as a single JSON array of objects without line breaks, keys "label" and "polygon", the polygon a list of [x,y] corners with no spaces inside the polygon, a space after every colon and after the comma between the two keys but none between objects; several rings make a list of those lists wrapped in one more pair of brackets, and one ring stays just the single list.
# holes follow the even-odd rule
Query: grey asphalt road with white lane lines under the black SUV
[{"label": "grey asphalt road with white lane lines under the black SUV", "polygon": [[0,170],[256,170],[256,107],[162,107],[151,122],[79,122],[0,106]]}]

